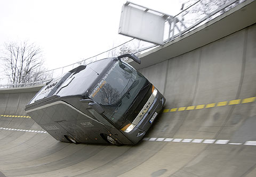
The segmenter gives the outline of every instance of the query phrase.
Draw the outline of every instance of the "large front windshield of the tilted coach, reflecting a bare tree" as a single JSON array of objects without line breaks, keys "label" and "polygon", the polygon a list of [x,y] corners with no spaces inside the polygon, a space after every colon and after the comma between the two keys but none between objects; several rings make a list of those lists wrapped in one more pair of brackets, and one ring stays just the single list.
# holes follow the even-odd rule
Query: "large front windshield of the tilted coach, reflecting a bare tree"
[{"label": "large front windshield of the tilted coach, reflecting a bare tree", "polygon": [[103,114],[120,129],[127,121],[125,113],[146,82],[147,79],[130,65],[117,61],[88,94],[104,109]]}]

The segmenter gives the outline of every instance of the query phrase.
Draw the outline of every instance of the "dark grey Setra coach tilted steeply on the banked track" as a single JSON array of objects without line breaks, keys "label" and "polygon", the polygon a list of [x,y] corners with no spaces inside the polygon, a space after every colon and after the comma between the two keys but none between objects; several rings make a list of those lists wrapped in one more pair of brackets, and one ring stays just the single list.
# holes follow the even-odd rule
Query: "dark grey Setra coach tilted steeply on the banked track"
[{"label": "dark grey Setra coach tilted steeply on the banked track", "polygon": [[47,83],[25,111],[59,141],[136,144],[165,98],[122,57],[140,63],[134,54],[125,54],[80,65]]}]

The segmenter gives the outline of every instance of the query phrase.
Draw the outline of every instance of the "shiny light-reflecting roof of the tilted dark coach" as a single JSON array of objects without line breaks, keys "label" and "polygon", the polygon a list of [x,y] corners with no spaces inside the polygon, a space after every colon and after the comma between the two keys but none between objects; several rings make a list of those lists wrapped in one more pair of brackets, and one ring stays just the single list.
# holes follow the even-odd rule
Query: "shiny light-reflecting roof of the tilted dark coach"
[{"label": "shiny light-reflecting roof of the tilted dark coach", "polygon": [[47,83],[30,101],[33,104],[39,100],[47,99],[53,95],[73,96],[87,94],[95,82],[102,78],[114,58],[105,58],[87,65],[80,65],[70,70],[60,78],[55,78]]}]

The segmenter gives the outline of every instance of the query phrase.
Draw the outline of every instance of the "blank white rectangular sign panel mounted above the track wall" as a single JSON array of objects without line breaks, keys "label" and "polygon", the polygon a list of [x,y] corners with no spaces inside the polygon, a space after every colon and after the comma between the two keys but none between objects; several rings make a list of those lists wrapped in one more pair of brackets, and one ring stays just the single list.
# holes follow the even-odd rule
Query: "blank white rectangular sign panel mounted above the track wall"
[{"label": "blank white rectangular sign panel mounted above the track wall", "polygon": [[163,45],[164,22],[162,16],[123,5],[118,33]]}]

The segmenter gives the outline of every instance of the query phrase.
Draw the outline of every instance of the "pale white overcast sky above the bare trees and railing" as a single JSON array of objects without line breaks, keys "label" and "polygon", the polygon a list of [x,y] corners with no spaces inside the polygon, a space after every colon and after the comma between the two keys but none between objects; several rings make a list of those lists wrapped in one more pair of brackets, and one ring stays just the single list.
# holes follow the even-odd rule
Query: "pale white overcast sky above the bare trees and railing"
[{"label": "pale white overcast sky above the bare trees and railing", "polygon": [[[25,41],[43,50],[45,68],[54,69],[124,43],[118,34],[124,0],[0,0],[0,49],[4,43]],[[183,0],[133,0],[170,15]],[[1,74],[0,74],[1,75]]]}]

